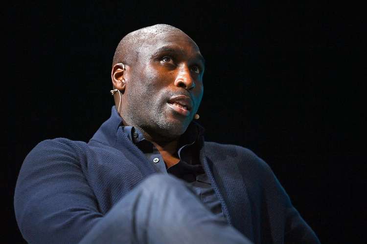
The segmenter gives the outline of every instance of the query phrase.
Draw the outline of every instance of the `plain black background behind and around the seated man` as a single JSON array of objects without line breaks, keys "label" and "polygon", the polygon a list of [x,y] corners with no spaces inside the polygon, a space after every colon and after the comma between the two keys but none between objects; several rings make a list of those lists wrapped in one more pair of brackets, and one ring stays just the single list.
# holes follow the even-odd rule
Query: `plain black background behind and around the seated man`
[{"label": "plain black background behind and around the seated man", "polygon": [[15,160],[5,178],[10,243],[23,242],[13,194],[24,157],[45,139],[92,137],[110,116],[118,41],[156,23],[182,29],[206,58],[206,140],[263,158],[321,243],[365,243],[361,7],[200,2],[17,2],[5,11],[16,105],[8,121],[15,153],[6,154]]}]

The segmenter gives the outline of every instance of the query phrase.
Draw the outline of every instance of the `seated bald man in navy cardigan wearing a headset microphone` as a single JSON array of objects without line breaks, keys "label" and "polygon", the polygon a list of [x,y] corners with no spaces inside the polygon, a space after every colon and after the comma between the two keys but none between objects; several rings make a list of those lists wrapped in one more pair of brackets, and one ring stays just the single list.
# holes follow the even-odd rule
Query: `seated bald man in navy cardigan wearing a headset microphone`
[{"label": "seated bald man in navy cardigan wearing a headset microphone", "polygon": [[88,142],[39,143],[24,160],[16,217],[29,243],[319,243],[269,166],[204,142],[193,122],[205,62],[170,25],[125,36],[112,115]]}]

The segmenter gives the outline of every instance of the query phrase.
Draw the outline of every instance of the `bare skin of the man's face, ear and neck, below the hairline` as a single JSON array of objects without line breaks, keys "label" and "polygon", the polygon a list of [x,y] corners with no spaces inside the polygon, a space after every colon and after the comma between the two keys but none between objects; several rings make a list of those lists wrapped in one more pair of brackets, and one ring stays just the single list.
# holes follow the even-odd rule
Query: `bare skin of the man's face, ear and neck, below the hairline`
[{"label": "bare skin of the man's face, ear and neck, below the hairline", "polygon": [[[124,64],[125,70],[116,63],[111,73],[114,87],[123,94],[123,123],[138,128],[157,147],[169,168],[179,162],[180,136],[203,97],[204,59],[196,43],[177,30],[147,40],[136,61]],[[172,106],[178,97],[186,109]],[[117,107],[118,94],[115,103]]]}]

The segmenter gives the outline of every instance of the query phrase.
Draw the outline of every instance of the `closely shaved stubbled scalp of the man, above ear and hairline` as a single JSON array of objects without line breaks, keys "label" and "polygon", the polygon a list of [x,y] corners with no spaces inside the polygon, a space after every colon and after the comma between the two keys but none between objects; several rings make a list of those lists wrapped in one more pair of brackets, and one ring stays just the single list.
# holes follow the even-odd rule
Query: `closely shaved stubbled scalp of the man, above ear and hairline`
[{"label": "closely shaved stubbled scalp of the man, above ear and hairline", "polygon": [[172,25],[156,24],[127,34],[117,45],[112,66],[119,62],[131,65],[137,60],[139,50],[146,41],[168,32],[184,33]]}]

